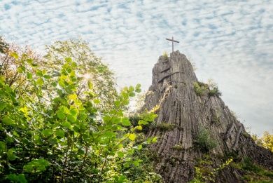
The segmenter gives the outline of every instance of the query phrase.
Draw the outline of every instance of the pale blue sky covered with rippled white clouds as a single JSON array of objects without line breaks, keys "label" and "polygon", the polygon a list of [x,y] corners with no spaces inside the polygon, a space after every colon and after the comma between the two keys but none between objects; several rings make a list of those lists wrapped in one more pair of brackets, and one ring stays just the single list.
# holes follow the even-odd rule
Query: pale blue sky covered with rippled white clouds
[{"label": "pale blue sky covered with rippled white clouds", "polygon": [[251,132],[273,133],[273,1],[0,0],[0,35],[43,53],[82,38],[116,73],[118,86],[151,85],[166,38],[214,79],[222,99]]}]

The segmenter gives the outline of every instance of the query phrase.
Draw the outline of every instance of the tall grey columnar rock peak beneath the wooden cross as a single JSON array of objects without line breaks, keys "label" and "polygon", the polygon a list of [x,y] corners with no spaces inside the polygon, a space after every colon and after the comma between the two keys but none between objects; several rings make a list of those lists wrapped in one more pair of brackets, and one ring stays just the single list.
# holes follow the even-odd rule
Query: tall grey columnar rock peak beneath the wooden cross
[{"label": "tall grey columnar rock peak beneath the wooden cross", "polygon": [[[192,65],[179,51],[168,58],[160,56],[153,68],[153,83],[144,109],[160,106],[155,128],[150,128],[148,136],[159,137],[151,150],[159,157],[155,168],[165,182],[181,183],[193,179],[195,160],[204,154],[195,144],[200,126],[209,129],[218,142],[218,146],[209,152],[215,164],[223,163],[226,154],[235,154],[250,157],[272,169],[272,153],[253,142],[220,97],[197,96],[193,87],[196,81]],[[162,123],[172,124],[173,128],[156,128]],[[174,149],[175,146],[181,148]],[[241,182],[241,172],[226,168],[216,182]]]}]

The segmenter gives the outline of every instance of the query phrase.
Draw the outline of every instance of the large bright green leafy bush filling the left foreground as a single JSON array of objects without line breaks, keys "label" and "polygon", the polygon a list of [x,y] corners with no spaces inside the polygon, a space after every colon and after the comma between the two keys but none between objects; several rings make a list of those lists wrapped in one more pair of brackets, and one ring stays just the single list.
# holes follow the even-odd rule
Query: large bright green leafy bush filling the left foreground
[{"label": "large bright green leafy bush filling the left foreground", "polygon": [[123,167],[138,165],[141,161],[132,158],[134,152],[141,144],[156,141],[151,138],[134,143],[139,137],[136,130],[155,115],[146,114],[139,126],[131,127],[123,112],[139,86],[124,88],[112,97],[111,109],[102,109],[97,107],[102,97],[94,93],[95,83],[87,81],[90,84],[85,92],[78,93],[82,86],[78,71],[83,65],[70,57],[61,61],[56,76],[44,65],[42,69],[33,65],[34,60],[27,55],[12,56],[15,63],[25,65],[20,74],[31,93],[20,90],[19,95],[19,90],[1,75],[0,181],[133,181],[126,177]]}]

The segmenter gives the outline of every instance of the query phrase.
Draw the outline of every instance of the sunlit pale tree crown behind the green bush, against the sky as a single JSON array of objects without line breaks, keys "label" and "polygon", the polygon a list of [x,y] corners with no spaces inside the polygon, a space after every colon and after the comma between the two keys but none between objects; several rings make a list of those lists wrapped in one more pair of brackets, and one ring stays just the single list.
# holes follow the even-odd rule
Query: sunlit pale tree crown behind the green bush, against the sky
[{"label": "sunlit pale tree crown behind the green bush, against the sky", "polygon": [[85,93],[88,85],[92,84],[93,93],[100,100],[99,104],[96,104],[97,107],[100,109],[114,107],[117,91],[113,72],[101,58],[94,55],[87,42],[83,40],[56,41],[51,46],[47,46],[46,50],[45,67],[51,68],[52,76],[59,76],[56,71],[59,71],[65,63],[65,57],[71,57],[77,64],[73,71],[81,76],[77,88],[78,95]]}]

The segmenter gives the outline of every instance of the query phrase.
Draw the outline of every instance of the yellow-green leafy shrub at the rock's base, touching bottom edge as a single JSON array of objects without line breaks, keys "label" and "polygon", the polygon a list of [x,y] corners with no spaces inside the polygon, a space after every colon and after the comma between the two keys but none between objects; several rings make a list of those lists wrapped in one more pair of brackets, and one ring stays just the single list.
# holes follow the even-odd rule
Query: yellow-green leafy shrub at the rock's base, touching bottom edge
[{"label": "yellow-green leafy shrub at the rock's base, touching bottom edge", "polygon": [[220,170],[226,168],[230,163],[232,163],[233,159],[229,158],[223,164],[219,165],[217,168],[212,168],[212,161],[208,156],[204,156],[204,160],[201,159],[197,166],[195,166],[195,177],[190,183],[204,183],[204,182],[215,182],[216,175]]}]

